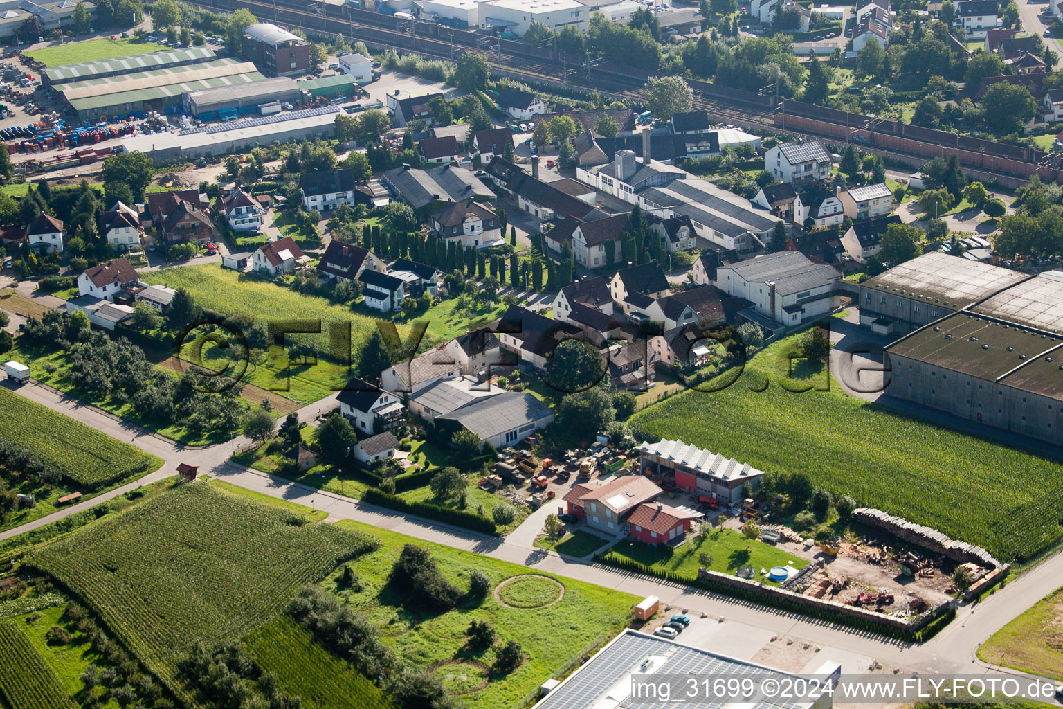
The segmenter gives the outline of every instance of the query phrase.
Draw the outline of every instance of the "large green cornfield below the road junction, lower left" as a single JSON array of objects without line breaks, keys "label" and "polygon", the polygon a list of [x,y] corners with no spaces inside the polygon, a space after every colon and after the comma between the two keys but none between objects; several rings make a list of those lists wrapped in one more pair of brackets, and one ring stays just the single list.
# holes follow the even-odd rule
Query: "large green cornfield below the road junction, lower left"
[{"label": "large green cornfield below the road junction, lower left", "polygon": [[365,551],[365,535],[192,483],[33,552],[27,562],[82,600],[175,693],[195,641],[238,640],[296,590]]}]

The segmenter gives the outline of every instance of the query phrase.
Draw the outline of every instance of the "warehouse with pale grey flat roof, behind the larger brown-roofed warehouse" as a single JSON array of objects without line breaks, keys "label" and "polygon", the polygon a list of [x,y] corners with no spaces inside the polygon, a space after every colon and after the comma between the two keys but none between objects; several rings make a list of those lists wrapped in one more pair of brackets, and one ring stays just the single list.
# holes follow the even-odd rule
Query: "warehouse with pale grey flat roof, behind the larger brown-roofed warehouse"
[{"label": "warehouse with pale grey flat roof, behind the larger brown-roofed warehouse", "polygon": [[931,251],[860,284],[860,324],[879,335],[910,333],[1029,277]]}]

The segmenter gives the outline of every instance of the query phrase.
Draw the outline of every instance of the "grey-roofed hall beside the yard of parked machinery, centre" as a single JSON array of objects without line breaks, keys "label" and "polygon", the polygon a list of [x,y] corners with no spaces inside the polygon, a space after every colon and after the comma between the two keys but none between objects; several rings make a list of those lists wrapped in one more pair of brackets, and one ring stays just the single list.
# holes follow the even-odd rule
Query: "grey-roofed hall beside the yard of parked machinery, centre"
[{"label": "grey-roofed hall beside the yard of parked machinery, centre", "polygon": [[490,442],[497,450],[516,445],[553,422],[554,411],[522,391],[479,398],[436,417],[437,431],[444,436],[467,428],[479,437],[482,444]]}]

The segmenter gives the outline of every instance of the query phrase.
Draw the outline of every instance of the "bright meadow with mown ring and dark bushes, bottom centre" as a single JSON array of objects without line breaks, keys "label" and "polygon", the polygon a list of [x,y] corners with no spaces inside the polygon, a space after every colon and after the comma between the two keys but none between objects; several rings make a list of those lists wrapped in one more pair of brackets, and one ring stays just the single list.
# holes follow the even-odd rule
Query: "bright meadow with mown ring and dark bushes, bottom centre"
[{"label": "bright meadow with mown ring and dark bushes, bottom centre", "polygon": [[[525,567],[357,522],[344,520],[337,522],[337,526],[372,534],[383,542],[379,550],[351,564],[365,585],[364,591],[350,595],[352,609],[374,621],[385,642],[414,669],[435,669],[445,685],[467,691],[460,697],[466,707],[511,707],[533,698],[547,677],[567,671],[570,660],[601,645],[624,627],[631,607],[639,601],[626,593],[570,578],[550,576],[556,581],[541,580],[537,577],[549,575],[538,572],[528,577]],[[507,585],[512,587],[512,595],[525,603],[555,601],[561,593],[558,584],[563,586],[563,597],[553,605],[510,608],[488,594],[477,606],[466,604],[441,614],[405,609],[386,584],[392,563],[408,543],[426,548],[440,571],[459,589],[468,588],[469,574],[478,570],[490,577],[494,587],[513,576],[525,576]],[[330,588],[334,584],[324,586]],[[513,673],[492,678],[482,689],[475,689],[483,681],[480,671],[476,665],[461,662],[474,660],[490,665],[493,661],[492,649],[474,653],[465,644],[466,628],[474,620],[490,623],[503,642],[516,640],[528,656]]]}]

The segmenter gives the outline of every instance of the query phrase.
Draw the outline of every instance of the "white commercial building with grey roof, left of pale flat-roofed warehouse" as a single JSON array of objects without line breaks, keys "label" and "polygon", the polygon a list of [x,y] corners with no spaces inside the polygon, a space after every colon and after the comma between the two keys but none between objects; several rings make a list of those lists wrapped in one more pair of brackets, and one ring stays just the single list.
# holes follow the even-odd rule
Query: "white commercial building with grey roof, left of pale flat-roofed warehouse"
[{"label": "white commercial building with grey roof, left of pale flat-roofed warehouse", "polygon": [[[728,296],[753,303],[749,316],[764,316],[787,327],[811,322],[838,307],[834,283],[841,278],[833,267],[814,264],[796,251],[780,251],[766,256],[721,266],[716,287]],[[754,315],[756,314],[756,315]]]}]

